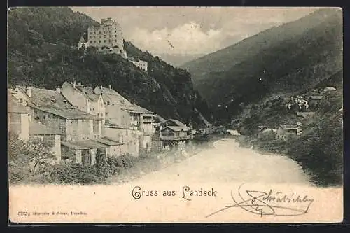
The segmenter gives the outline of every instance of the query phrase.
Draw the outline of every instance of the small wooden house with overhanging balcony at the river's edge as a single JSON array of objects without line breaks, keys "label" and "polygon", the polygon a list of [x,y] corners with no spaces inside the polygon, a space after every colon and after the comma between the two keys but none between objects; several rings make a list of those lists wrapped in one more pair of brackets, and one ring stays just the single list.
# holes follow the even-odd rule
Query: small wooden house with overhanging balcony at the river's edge
[{"label": "small wooden house with overhanging balcony at the river's edge", "polygon": [[179,120],[169,119],[160,126],[160,140],[163,147],[184,146],[193,139],[192,129]]}]

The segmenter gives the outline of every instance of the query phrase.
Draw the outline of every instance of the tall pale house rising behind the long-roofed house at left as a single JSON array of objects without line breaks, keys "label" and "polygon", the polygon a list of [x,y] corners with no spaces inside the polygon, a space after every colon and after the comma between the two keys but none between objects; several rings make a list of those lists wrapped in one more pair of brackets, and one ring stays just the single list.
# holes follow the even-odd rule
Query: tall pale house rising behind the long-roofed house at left
[{"label": "tall pale house rising behind the long-roofed house at left", "polygon": [[106,106],[104,106],[102,94],[96,94],[92,87],[85,87],[80,82],[76,84],[75,81],[73,83],[64,82],[60,92],[69,103],[77,106],[79,110],[102,118],[102,125],[104,125]]}]

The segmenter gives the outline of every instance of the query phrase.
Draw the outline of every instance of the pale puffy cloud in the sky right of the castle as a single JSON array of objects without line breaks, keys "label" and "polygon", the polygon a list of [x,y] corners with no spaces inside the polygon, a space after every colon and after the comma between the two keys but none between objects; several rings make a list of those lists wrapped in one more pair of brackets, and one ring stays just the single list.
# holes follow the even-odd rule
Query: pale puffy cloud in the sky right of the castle
[{"label": "pale puffy cloud in the sky right of the castle", "polygon": [[201,24],[188,22],[173,29],[158,30],[136,28],[128,36],[139,48],[155,54],[199,54],[218,50],[221,46],[221,29],[202,30]]}]

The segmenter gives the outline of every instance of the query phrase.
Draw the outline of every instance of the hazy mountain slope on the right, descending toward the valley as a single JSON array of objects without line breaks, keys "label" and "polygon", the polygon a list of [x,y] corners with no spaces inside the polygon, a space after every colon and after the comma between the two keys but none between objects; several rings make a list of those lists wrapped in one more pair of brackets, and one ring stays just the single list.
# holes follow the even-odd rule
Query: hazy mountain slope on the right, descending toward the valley
[{"label": "hazy mountain slope on the right, descending toward the valley", "polygon": [[230,120],[249,103],[301,92],[342,69],[342,10],[318,10],[181,68],[216,117]]}]

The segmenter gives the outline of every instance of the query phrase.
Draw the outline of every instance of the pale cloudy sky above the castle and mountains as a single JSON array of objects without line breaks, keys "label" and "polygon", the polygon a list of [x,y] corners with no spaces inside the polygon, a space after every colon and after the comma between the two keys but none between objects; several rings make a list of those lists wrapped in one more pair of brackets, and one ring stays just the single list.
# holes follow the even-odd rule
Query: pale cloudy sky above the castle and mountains
[{"label": "pale cloudy sky above the castle and mountains", "polygon": [[71,7],[97,22],[112,17],[125,41],[153,55],[215,52],[318,8],[262,7]]}]

